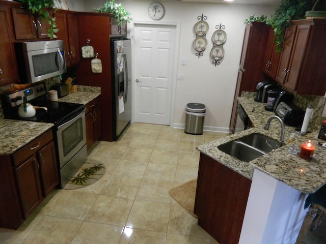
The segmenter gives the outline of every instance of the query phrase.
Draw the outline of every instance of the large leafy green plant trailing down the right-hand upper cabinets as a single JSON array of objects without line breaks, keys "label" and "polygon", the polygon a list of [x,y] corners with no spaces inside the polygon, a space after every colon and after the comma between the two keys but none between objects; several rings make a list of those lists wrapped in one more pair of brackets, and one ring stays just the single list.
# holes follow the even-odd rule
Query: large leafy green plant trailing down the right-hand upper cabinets
[{"label": "large leafy green plant trailing down the right-hand upper cabinets", "polygon": [[273,27],[275,33],[274,42],[277,45],[277,52],[282,51],[284,31],[291,24],[291,20],[303,19],[306,11],[312,9],[319,0],[282,0],[275,13],[267,19],[266,23]]}]

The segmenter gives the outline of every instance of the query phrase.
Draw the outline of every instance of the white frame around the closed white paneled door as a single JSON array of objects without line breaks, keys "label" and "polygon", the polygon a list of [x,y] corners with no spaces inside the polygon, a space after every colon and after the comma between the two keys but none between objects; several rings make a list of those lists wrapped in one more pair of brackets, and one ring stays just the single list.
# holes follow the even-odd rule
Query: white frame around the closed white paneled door
[{"label": "white frame around the closed white paneled door", "polygon": [[147,25],[148,27],[155,26],[170,26],[175,27],[175,47],[174,47],[174,60],[173,60],[173,68],[172,68],[172,80],[171,80],[171,114],[170,114],[170,127],[173,127],[174,124],[174,111],[175,111],[175,96],[176,96],[176,82],[177,82],[177,70],[178,70],[178,56],[179,56],[179,43],[180,43],[180,22],[155,22],[155,21],[132,21],[131,31],[128,33],[128,37],[131,39],[131,48],[132,48],[132,75],[131,75],[131,88],[132,88],[132,109],[131,109],[131,123],[134,123],[135,120],[135,93],[136,93],[136,84],[135,84],[135,43],[134,43],[134,34],[135,28],[140,25]]}]

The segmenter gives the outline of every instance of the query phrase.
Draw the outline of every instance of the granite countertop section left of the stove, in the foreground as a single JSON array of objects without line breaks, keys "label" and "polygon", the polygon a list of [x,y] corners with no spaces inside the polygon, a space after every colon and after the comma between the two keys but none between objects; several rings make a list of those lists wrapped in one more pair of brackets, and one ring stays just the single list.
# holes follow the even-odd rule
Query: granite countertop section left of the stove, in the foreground
[{"label": "granite countertop section left of the stove, in the foreground", "polygon": [[0,119],[0,155],[13,154],[53,126],[50,123]]}]

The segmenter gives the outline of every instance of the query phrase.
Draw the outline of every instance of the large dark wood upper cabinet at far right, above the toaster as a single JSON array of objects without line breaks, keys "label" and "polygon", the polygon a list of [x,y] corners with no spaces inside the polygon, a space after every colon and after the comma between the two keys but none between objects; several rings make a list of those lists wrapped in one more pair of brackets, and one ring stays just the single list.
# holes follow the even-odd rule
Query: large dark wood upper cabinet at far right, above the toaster
[{"label": "large dark wood upper cabinet at far right, above the toaster", "polygon": [[326,19],[294,20],[287,28],[276,81],[302,95],[326,91]]}]

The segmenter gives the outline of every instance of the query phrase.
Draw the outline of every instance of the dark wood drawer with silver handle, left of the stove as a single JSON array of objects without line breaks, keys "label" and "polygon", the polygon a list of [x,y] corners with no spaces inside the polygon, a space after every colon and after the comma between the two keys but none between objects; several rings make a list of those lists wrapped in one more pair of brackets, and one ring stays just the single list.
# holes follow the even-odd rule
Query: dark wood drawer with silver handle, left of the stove
[{"label": "dark wood drawer with silver handle, left of the stove", "polygon": [[53,140],[52,130],[48,130],[13,154],[14,166],[17,167],[38,150]]}]

